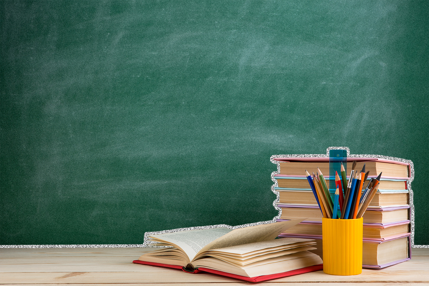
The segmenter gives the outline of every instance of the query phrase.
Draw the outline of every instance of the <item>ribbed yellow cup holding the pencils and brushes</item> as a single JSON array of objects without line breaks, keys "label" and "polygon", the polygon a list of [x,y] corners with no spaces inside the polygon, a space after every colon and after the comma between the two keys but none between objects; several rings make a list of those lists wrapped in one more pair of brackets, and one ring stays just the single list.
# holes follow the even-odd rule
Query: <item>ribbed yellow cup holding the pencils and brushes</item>
[{"label": "ribbed yellow cup holding the pencils and brushes", "polygon": [[322,218],[323,272],[331,275],[362,273],[363,218]]}]

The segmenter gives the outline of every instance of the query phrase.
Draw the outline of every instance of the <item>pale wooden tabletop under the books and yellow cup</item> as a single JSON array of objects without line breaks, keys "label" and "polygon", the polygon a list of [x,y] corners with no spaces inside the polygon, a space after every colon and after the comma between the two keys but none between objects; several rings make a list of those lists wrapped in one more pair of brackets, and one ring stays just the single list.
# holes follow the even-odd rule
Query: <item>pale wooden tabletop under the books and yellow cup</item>
[{"label": "pale wooden tabletop under the books and yellow cup", "polygon": [[369,286],[399,283],[429,285],[429,249],[413,248],[412,259],[381,270],[364,268],[355,276],[323,271],[251,283],[209,273],[132,263],[150,248],[1,248],[0,284],[67,286],[286,285]]}]

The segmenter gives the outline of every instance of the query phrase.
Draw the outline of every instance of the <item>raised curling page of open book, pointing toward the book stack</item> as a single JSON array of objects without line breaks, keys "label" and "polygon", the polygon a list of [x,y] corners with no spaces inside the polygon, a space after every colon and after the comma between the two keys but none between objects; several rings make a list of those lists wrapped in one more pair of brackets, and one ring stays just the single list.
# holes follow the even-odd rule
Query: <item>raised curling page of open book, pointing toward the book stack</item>
[{"label": "raised curling page of open book, pointing toward the book stack", "polygon": [[231,246],[236,246],[240,244],[249,244],[249,243],[259,242],[259,241],[274,240],[279,234],[281,234],[288,228],[306,219],[307,218],[301,218],[297,220],[260,224],[257,226],[248,226],[248,227],[243,227],[241,229],[234,229],[228,232],[227,234],[225,234],[224,236],[214,241],[211,241],[209,244],[202,247],[202,249],[199,250],[199,252],[195,256],[193,256],[192,258],[191,257],[189,258],[192,261],[194,258],[197,258],[198,255],[200,255],[202,252],[206,250],[218,249],[223,247],[231,247]]}]

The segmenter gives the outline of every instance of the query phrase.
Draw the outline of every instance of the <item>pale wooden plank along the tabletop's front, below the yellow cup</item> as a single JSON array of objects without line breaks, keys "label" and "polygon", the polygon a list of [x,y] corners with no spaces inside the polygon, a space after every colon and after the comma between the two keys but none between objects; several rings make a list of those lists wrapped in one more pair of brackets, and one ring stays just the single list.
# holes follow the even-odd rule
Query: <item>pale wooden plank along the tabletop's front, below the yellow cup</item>
[{"label": "pale wooden plank along the tabletop's front, below the yellow cup", "polygon": [[[426,268],[427,271],[427,268]],[[214,274],[189,274],[183,271],[142,272],[40,272],[2,273],[2,283],[222,283],[237,280]],[[428,274],[409,271],[363,271],[355,276],[335,276],[316,271],[272,280],[275,282],[372,282],[372,283],[429,283]]]}]

